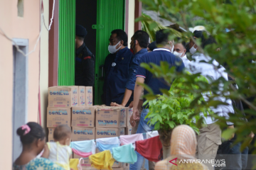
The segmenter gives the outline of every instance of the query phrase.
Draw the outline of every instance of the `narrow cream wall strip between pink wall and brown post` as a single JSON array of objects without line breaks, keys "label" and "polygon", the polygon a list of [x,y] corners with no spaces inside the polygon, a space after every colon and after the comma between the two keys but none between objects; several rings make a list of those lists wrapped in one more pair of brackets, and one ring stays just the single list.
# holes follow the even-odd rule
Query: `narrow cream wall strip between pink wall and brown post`
[{"label": "narrow cream wall strip between pink wall and brown post", "polygon": [[[53,1],[50,1],[52,3]],[[49,0],[43,0],[43,15],[46,26],[49,26]],[[51,17],[51,16],[50,16]],[[48,106],[48,38],[49,32],[45,26],[41,30],[40,42],[40,94],[42,126],[46,130],[46,109]]]}]

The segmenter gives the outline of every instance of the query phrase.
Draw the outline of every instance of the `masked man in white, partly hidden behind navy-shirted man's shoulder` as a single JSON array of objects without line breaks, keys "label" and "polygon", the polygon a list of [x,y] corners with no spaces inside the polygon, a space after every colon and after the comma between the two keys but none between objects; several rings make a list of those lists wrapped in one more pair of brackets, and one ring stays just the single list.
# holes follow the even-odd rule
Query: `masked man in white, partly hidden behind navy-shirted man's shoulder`
[{"label": "masked man in white, partly hidden behind navy-shirted man's shoulder", "polygon": [[185,67],[188,67],[188,64],[191,62],[186,57],[186,42],[178,42],[174,45],[174,55],[181,57]]}]

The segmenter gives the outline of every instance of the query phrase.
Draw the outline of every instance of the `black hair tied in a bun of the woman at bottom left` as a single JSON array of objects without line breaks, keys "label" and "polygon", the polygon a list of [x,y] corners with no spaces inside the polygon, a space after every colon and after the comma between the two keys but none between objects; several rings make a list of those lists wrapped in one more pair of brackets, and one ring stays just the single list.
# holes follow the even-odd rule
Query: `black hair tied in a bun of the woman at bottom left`
[{"label": "black hair tied in a bun of the woman at bottom left", "polygon": [[30,131],[24,135],[26,129],[22,130],[22,127],[17,129],[17,135],[20,136],[22,145],[29,145],[35,140],[43,140],[46,137],[46,133],[38,123],[29,122],[26,125],[30,128]]}]

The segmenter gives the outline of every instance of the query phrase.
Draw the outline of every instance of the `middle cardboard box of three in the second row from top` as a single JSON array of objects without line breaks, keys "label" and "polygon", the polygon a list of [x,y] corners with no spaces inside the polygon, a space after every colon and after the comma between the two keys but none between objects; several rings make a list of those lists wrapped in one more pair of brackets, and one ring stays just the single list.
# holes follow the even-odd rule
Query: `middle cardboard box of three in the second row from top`
[{"label": "middle cardboard box of three in the second row from top", "polygon": [[72,127],[95,127],[95,107],[72,107]]}]

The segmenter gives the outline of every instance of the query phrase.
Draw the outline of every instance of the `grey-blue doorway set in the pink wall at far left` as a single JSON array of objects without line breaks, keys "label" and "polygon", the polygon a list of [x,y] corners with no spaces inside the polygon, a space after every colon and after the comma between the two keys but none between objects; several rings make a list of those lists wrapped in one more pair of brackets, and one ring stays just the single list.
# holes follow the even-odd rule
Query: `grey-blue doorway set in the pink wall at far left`
[{"label": "grey-blue doorway set in the pink wall at far left", "polygon": [[[27,39],[13,39],[24,54],[28,52]],[[18,52],[13,45],[14,53],[14,96],[13,96],[13,162],[22,151],[20,138],[16,130],[27,122],[28,111],[28,57]]]}]

